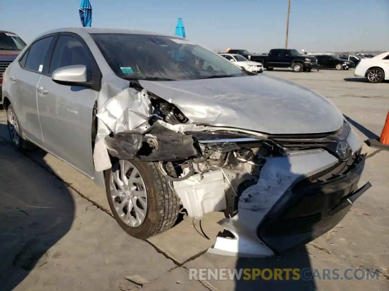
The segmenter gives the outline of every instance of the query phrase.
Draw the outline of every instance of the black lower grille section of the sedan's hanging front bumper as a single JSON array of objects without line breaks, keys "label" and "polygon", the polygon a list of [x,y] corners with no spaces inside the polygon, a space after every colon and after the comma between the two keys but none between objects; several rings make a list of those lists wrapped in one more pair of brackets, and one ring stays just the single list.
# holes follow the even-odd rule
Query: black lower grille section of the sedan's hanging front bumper
[{"label": "black lower grille section of the sedan's hanging front bumper", "polygon": [[325,170],[294,185],[259,225],[258,238],[280,255],[328,232],[371,187],[367,183],[357,189],[365,159],[365,155],[355,155],[338,177]]}]

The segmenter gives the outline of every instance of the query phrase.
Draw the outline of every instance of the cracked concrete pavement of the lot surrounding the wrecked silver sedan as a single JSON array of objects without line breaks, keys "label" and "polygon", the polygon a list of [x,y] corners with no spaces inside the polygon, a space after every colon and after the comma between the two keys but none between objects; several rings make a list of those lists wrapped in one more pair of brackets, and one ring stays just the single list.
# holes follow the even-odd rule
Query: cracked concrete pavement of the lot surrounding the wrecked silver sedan
[{"label": "cracked concrete pavement of the lot surrounding the wrecked silver sedan", "polygon": [[[380,134],[389,109],[389,84],[355,80],[352,71],[266,73],[328,97],[348,116],[363,140]],[[0,286],[12,289],[21,282],[15,290],[131,290],[141,287],[141,283],[126,279],[134,275],[148,282],[142,287],[146,290],[385,290],[389,286],[388,152],[364,147],[370,156],[361,183],[369,180],[373,187],[326,236],[285,258],[249,260],[203,254],[213,240],[200,235],[198,225],[190,219],[147,242],[127,236],[110,217],[101,188],[50,154],[37,151],[26,157],[15,152],[6,144],[5,123],[2,112],[0,248],[6,260],[0,269]],[[214,238],[219,231],[216,222],[221,217],[210,214],[202,221],[208,237]],[[234,267],[362,267],[378,268],[381,273],[378,281],[188,279],[187,268]]]}]

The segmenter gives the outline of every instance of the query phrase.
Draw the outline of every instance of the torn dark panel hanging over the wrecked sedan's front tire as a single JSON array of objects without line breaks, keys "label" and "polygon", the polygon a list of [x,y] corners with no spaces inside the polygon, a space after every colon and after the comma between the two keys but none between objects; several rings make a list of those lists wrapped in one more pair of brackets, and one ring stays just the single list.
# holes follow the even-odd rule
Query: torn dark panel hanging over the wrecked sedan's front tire
[{"label": "torn dark panel hanging over the wrecked sedan's front tire", "polygon": [[119,159],[175,161],[198,156],[190,135],[172,131],[148,134],[119,132],[105,138],[108,151]]}]

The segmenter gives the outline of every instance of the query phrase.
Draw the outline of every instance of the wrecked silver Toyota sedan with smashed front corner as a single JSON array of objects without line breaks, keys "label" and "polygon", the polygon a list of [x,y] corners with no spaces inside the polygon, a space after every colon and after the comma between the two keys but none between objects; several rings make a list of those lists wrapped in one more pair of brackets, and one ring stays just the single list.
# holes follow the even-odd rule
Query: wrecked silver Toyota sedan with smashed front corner
[{"label": "wrecked silver Toyota sedan with smashed front corner", "polygon": [[331,101],[177,36],[49,31],[7,68],[2,95],[16,149],[40,147],[93,179],[138,239],[179,213],[223,211],[210,252],[281,254],[371,186],[358,188],[362,144]]}]

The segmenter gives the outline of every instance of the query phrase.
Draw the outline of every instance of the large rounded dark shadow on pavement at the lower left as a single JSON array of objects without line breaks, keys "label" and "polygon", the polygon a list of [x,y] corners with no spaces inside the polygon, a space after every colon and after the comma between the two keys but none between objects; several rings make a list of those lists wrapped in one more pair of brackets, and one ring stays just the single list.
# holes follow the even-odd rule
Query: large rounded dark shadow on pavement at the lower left
[{"label": "large rounded dark shadow on pavement at the lower left", "polygon": [[[0,124],[0,286],[14,289],[72,226],[75,204],[63,182],[9,144]],[[39,155],[42,157],[44,154]],[[49,167],[49,166],[47,166]]]}]

